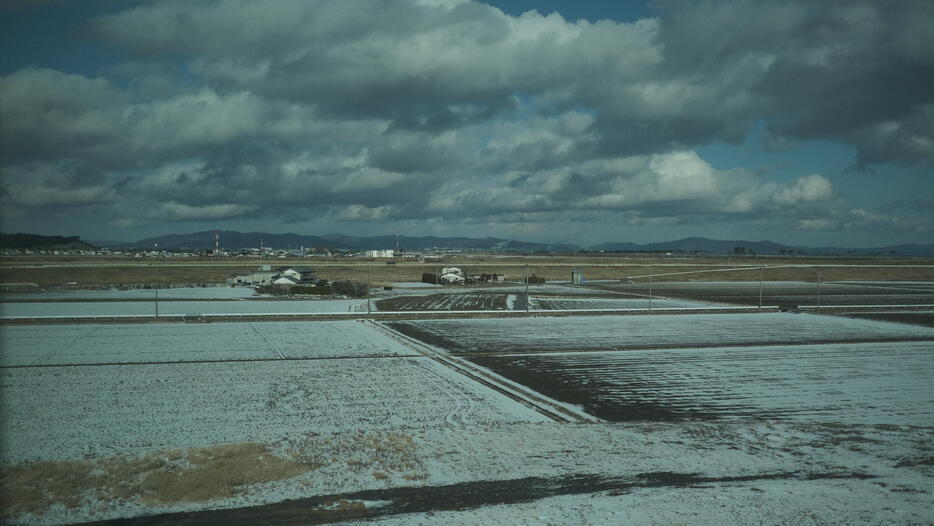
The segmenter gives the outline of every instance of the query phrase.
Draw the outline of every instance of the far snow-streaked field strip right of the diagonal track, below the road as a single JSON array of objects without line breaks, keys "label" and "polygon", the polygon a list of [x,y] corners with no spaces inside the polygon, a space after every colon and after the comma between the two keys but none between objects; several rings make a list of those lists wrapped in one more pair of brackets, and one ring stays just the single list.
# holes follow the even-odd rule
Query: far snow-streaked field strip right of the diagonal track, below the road
[{"label": "far snow-streaked field strip right of the diagonal track, below the road", "polygon": [[[931,338],[934,328],[792,313],[572,316],[399,322],[460,352],[613,350]],[[934,344],[932,344],[934,345]]]}]

